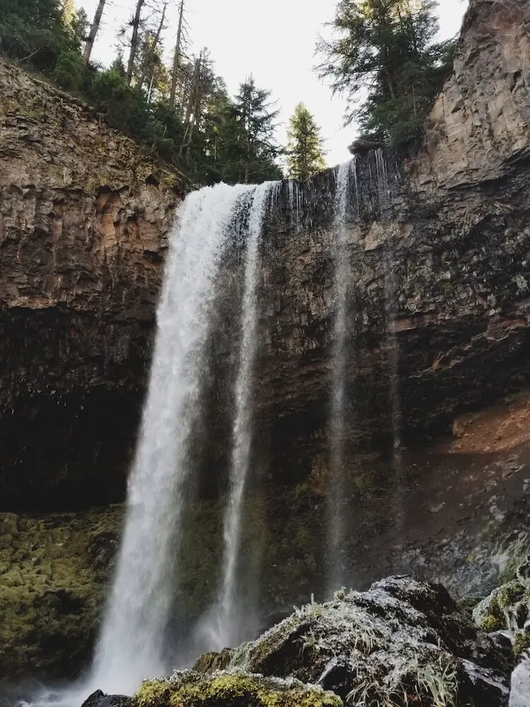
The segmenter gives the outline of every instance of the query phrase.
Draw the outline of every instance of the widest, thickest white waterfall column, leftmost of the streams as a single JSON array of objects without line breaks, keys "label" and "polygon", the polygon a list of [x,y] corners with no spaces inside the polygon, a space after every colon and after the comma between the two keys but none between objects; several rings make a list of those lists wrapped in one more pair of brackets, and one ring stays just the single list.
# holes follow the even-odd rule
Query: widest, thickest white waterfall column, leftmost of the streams
[{"label": "widest, thickest white waterfall column, leftmost of the streams", "polygon": [[187,443],[199,415],[213,279],[230,220],[249,189],[221,184],[189,194],[171,234],[126,525],[91,680],[110,693],[131,694],[142,678],[170,667],[164,638],[175,595],[190,472]]}]

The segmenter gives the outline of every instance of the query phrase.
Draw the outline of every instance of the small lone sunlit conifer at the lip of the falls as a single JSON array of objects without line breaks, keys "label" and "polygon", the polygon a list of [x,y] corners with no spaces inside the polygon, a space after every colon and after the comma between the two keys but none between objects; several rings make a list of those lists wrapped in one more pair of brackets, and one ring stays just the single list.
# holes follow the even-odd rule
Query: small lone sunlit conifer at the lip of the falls
[{"label": "small lone sunlit conifer at the lip of the falls", "polygon": [[326,166],[319,127],[303,103],[298,103],[290,118],[287,165],[289,177],[301,181]]}]

